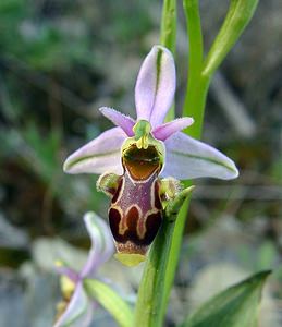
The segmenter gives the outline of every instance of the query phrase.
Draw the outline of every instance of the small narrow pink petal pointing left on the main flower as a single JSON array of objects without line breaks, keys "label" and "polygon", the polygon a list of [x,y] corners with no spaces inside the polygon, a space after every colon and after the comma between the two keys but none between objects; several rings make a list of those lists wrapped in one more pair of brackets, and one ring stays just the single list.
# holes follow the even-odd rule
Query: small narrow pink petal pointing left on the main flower
[{"label": "small narrow pink petal pointing left on the main flower", "polygon": [[134,135],[132,128],[134,126],[135,121],[131,117],[125,116],[108,107],[102,107],[99,110],[105,117],[107,117],[117,126],[120,126],[126,133],[127,136],[131,137]]}]

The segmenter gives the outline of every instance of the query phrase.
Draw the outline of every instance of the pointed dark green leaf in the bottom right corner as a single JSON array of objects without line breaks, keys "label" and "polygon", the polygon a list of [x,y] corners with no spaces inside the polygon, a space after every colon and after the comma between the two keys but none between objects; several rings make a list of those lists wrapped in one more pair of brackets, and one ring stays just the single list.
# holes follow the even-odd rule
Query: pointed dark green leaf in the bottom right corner
[{"label": "pointed dark green leaf in the bottom right corner", "polygon": [[219,293],[187,317],[182,327],[257,327],[261,290],[270,272],[253,275]]}]

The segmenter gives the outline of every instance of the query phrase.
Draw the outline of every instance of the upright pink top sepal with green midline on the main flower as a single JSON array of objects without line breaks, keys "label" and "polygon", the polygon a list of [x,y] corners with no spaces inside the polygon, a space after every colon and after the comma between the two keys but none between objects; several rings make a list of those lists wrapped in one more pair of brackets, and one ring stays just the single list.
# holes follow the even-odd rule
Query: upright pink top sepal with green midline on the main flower
[{"label": "upright pink top sepal with green midline on the main flower", "polygon": [[161,124],[172,105],[175,86],[175,65],[171,52],[162,46],[152,47],[136,81],[137,119],[149,121],[152,129]]}]

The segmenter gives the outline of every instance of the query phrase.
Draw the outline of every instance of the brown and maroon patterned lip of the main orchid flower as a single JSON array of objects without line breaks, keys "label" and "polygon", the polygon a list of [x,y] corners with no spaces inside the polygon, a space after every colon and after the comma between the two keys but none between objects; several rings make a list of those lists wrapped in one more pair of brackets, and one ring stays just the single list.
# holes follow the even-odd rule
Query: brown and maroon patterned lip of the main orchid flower
[{"label": "brown and maroon patterned lip of the main orchid flower", "polygon": [[136,145],[125,152],[122,164],[124,173],[111,201],[109,221],[118,256],[123,262],[126,257],[126,264],[127,255],[144,259],[161,226],[161,164],[155,146],[138,149]]}]

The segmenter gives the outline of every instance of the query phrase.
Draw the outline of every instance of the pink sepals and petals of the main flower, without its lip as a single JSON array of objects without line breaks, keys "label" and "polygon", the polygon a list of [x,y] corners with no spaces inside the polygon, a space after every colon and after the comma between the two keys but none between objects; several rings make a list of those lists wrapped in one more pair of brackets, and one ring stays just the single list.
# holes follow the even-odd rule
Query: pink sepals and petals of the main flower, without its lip
[{"label": "pink sepals and petals of the main flower, without its lip", "polygon": [[[164,143],[165,160],[162,177],[179,180],[212,177],[223,180],[238,175],[235,164],[216,148],[192,138],[181,130],[193,123],[193,118],[180,118],[168,123],[163,120],[175,93],[175,65],[171,52],[162,46],[154,46],[142,64],[136,86],[137,119],[147,120],[155,138]],[[135,120],[121,112],[102,107],[100,111],[117,128],[110,129],[90,141],[64,162],[68,173],[123,173],[121,147],[134,135]]]}]

